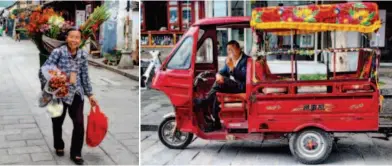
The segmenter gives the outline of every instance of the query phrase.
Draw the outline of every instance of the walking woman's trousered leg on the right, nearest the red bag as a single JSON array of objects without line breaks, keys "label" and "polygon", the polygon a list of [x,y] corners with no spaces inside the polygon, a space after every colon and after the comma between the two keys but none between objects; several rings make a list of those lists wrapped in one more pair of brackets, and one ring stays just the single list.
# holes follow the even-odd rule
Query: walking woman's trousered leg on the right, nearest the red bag
[{"label": "walking woman's trousered leg on the right, nearest the red bag", "polygon": [[71,157],[82,156],[82,147],[84,141],[84,123],[83,123],[83,106],[82,97],[75,95],[74,101],[69,109],[69,116],[74,125],[72,131]]}]

